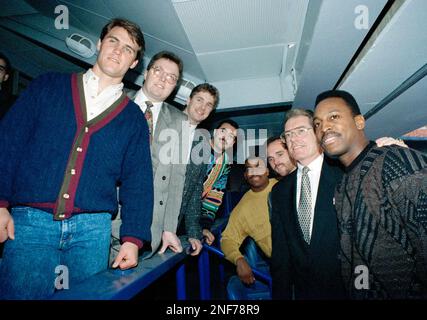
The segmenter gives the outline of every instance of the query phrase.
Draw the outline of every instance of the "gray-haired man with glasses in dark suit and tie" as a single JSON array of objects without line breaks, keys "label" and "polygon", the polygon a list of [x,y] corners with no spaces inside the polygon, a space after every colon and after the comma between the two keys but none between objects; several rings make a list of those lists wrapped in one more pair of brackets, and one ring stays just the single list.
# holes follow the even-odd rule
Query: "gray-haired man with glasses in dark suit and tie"
[{"label": "gray-haired man with glasses in dark suit and tie", "polygon": [[333,203],[342,170],[323,156],[312,124],[310,111],[292,109],[285,117],[281,137],[298,168],[271,196],[274,299],[344,298]]}]

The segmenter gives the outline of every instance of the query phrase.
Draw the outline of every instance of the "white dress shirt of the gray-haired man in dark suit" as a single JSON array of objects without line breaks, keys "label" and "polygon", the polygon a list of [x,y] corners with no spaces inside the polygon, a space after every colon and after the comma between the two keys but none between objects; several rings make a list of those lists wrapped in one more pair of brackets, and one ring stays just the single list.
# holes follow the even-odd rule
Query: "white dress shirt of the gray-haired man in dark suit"
[{"label": "white dress shirt of the gray-haired man in dark suit", "polygon": [[[310,171],[307,173],[308,178],[310,179],[310,189],[311,189],[311,221],[310,221],[310,238],[313,231],[313,221],[314,221],[314,208],[316,207],[317,191],[319,189],[320,174],[322,171],[323,165],[323,153],[314,159],[307,167]],[[302,178],[302,169],[305,167],[297,163],[297,197],[296,197],[296,208],[298,208],[300,196],[301,196],[301,178]]]}]

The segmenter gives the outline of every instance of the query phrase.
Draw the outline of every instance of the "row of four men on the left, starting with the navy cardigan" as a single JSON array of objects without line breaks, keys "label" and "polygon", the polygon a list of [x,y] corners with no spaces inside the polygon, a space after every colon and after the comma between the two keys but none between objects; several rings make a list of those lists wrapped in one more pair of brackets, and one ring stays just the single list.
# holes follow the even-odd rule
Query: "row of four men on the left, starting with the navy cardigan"
[{"label": "row of four men on the left, starting with the navy cardigan", "polygon": [[[201,250],[201,210],[187,215],[181,207],[197,198],[184,193],[191,183],[186,169],[195,128],[215,109],[218,91],[197,86],[184,113],[166,103],[183,63],[163,51],[149,62],[142,88],[125,92],[123,77],[145,49],[139,26],[128,20],[111,20],[97,49],[96,63],[83,74],[35,79],[0,124],[2,299],[49,297],[58,265],[67,266],[70,287],[105,270],[119,203],[113,268],[136,266],[141,250],[182,251],[176,232],[183,220],[192,254]],[[205,165],[212,150],[221,158],[234,144],[237,128],[231,129],[204,141]],[[198,182],[200,207],[206,174]]]}]

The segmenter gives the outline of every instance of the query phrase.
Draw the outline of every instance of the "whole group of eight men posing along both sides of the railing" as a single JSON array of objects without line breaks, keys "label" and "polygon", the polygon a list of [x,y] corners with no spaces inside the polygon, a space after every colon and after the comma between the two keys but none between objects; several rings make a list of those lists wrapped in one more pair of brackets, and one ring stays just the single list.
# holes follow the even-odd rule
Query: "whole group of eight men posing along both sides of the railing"
[{"label": "whole group of eight men posing along both sides of the railing", "polygon": [[[154,55],[142,88],[125,93],[122,79],[144,47],[136,24],[110,21],[91,69],[42,75],[0,123],[0,242],[10,239],[1,298],[50,296],[58,265],[69,268],[70,285],[104,270],[118,203],[120,232],[113,236],[120,245],[112,267],[136,266],[141,249],[181,252],[180,226],[192,255],[202,248],[202,232],[212,243],[209,228],[229,172],[224,150],[235,143],[238,125],[223,121],[196,148],[195,129],[219,93],[197,86],[184,112],[166,103],[183,72],[171,52]],[[279,182],[268,180],[265,163],[247,161],[245,177],[257,199],[249,207],[264,212],[248,228],[271,256],[274,298],[427,296],[427,157],[378,147],[364,126],[349,93],[327,91],[314,114],[290,110],[280,139],[270,141],[268,163]],[[167,132],[179,143],[170,143]],[[207,159],[196,163],[200,150],[208,150]],[[270,217],[256,196],[267,198],[270,190],[271,231],[257,227],[267,227]],[[235,230],[226,230],[225,241],[227,234],[236,239]],[[241,278],[253,282],[241,255],[232,256]],[[367,270],[359,286],[356,269]]]}]

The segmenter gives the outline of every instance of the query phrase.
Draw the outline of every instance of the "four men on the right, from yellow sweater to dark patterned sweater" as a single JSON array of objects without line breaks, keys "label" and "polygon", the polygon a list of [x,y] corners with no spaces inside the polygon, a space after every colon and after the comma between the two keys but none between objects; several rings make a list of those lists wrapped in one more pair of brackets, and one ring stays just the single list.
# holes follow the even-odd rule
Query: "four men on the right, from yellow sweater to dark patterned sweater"
[{"label": "four men on the right, from yellow sweater to dark patterned sweater", "polygon": [[[427,156],[399,140],[370,142],[364,128],[356,100],[340,90],[319,94],[314,113],[286,113],[282,135],[267,146],[280,179],[268,200],[272,248],[259,228],[236,220],[239,212],[224,232],[244,283],[253,274],[230,249],[243,233],[271,256],[274,299],[427,298]],[[249,182],[245,196],[255,201],[253,192],[270,186],[263,181],[261,190]]]}]

